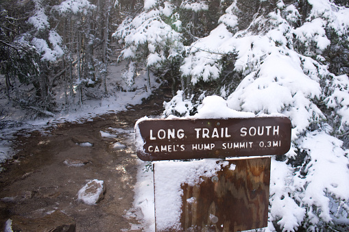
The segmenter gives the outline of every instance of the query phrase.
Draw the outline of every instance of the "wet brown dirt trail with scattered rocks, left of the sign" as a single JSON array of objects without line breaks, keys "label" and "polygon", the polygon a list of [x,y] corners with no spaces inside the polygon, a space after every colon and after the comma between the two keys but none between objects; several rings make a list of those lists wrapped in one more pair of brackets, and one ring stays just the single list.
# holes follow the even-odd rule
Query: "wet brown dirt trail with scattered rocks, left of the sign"
[{"label": "wet brown dirt trail with scattered rocks, left of the sign", "polygon": [[[71,216],[76,231],[131,231],[131,224],[141,224],[135,218],[125,218],[132,208],[137,173],[130,133],[136,119],[159,115],[168,97],[160,93],[125,112],[106,114],[83,124],[64,123],[49,136],[39,132],[19,136],[19,153],[0,173],[0,230],[11,216],[39,218],[55,210]],[[115,133],[112,128],[123,130],[117,138],[101,136],[100,131]],[[93,146],[79,146],[81,142]],[[113,149],[115,142],[127,148]],[[67,160],[85,165],[67,166]],[[106,194],[97,205],[86,205],[77,200],[77,192],[92,179],[106,183]]]}]

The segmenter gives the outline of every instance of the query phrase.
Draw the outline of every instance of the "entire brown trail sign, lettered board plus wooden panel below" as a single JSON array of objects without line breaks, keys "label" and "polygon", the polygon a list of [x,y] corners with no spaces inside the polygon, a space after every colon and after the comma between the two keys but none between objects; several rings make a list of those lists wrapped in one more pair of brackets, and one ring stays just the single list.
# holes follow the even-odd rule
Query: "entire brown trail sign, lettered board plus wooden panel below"
[{"label": "entire brown trail sign, lettered board plus wooden panel below", "polygon": [[[136,124],[137,155],[145,161],[246,157],[228,160],[214,177],[182,183],[182,231],[243,231],[267,227],[270,157],[291,146],[285,117],[195,120],[141,120]],[[235,168],[229,168],[231,166]],[[154,165],[154,194],[163,183]],[[176,173],[173,173],[176,175]],[[164,201],[165,199],[161,199]],[[155,211],[157,209],[155,197]],[[157,216],[156,216],[157,218]],[[179,231],[171,227],[156,231]]]}]

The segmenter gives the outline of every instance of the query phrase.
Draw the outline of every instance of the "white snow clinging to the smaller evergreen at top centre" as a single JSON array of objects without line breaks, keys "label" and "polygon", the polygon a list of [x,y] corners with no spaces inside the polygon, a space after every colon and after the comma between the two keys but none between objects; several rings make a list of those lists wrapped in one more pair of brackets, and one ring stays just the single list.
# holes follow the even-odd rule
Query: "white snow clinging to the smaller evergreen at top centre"
[{"label": "white snow clinging to the smaller evergreen at top centre", "polygon": [[[135,75],[133,62],[144,55],[144,45],[149,49],[147,66],[158,66],[161,62],[178,57],[183,47],[180,34],[162,19],[163,15],[171,13],[171,5],[166,3],[165,8],[156,9],[153,8],[156,3],[155,0],[145,1],[145,11],[133,19],[125,18],[113,34],[120,42],[125,42],[121,58],[130,60],[132,64],[124,72],[129,79]],[[169,54],[165,55],[167,52]]]}]

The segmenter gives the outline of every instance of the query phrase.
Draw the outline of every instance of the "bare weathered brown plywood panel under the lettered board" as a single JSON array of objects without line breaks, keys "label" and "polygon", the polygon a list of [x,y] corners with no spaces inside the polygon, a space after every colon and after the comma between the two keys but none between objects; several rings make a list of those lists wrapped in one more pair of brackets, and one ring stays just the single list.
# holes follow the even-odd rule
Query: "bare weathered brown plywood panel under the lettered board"
[{"label": "bare weathered brown plywood panel under the lettered board", "polygon": [[[182,183],[182,231],[233,232],[267,227],[270,157],[228,162],[216,177],[202,177],[200,185]],[[231,165],[235,165],[234,170],[229,169]]]}]

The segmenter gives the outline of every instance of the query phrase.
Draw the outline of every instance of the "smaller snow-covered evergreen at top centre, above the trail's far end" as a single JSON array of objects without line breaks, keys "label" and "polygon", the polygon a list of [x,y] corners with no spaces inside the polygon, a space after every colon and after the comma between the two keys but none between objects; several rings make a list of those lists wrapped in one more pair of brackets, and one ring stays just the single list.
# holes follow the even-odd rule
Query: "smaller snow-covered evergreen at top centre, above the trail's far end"
[{"label": "smaller snow-covered evergreen at top centre, above the trail's far end", "polygon": [[147,0],[143,11],[127,17],[114,36],[125,44],[121,59],[128,60],[123,79],[132,86],[137,68],[160,68],[165,62],[180,59],[182,51],[180,18],[171,1]]}]

